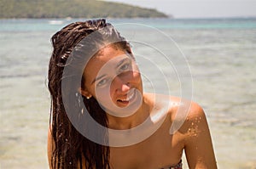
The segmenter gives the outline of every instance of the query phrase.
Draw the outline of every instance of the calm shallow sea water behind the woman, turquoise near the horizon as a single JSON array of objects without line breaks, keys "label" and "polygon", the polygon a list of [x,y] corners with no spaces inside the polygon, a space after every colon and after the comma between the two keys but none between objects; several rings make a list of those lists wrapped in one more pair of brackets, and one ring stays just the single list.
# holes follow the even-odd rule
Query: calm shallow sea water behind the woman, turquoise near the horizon
[{"label": "calm shallow sea water behind the woman, turquoise near the horizon", "polygon": [[[49,39],[79,20],[0,20],[1,169],[48,168]],[[256,168],[256,19],[108,21],[131,42],[146,91],[193,92],[219,168]]]}]

